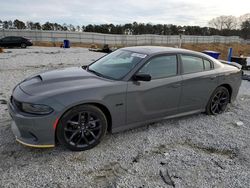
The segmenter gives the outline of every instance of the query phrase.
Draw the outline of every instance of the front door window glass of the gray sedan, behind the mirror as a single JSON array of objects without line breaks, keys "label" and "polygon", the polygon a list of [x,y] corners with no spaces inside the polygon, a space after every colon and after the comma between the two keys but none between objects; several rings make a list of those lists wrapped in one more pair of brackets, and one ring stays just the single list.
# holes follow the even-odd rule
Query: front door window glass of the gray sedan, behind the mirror
[{"label": "front door window glass of the gray sedan, behind the mirror", "polygon": [[177,74],[176,55],[159,56],[146,63],[139,73],[150,74],[152,79],[174,76]]}]

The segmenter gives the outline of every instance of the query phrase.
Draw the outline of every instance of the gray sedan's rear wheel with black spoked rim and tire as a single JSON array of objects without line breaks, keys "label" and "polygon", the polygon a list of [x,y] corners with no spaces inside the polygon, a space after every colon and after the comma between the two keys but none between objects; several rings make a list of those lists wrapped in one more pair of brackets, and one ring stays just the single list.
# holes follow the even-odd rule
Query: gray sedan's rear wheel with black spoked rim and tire
[{"label": "gray sedan's rear wheel with black spoked rim and tire", "polygon": [[223,86],[216,88],[208,101],[206,114],[217,115],[223,113],[229,102],[230,94],[228,89]]}]

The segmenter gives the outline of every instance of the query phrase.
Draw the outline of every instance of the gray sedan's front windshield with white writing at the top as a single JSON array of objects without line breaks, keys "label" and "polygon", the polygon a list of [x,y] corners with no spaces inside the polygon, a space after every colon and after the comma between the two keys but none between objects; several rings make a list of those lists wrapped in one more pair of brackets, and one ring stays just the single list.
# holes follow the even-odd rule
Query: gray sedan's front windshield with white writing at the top
[{"label": "gray sedan's front windshield with white writing at the top", "polygon": [[116,50],[91,64],[87,70],[98,76],[120,80],[145,57],[141,53]]}]

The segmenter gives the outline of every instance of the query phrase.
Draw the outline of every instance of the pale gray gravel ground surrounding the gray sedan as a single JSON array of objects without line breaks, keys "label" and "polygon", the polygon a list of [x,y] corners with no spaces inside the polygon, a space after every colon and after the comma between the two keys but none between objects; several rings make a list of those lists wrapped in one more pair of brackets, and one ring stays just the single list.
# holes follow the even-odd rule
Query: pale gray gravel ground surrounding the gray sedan
[{"label": "pale gray gravel ground surrounding the gray sedan", "polygon": [[16,143],[5,101],[25,77],[91,62],[83,48],[32,47],[0,54],[0,187],[249,187],[250,82],[218,116],[192,115],[107,135],[71,152]]}]

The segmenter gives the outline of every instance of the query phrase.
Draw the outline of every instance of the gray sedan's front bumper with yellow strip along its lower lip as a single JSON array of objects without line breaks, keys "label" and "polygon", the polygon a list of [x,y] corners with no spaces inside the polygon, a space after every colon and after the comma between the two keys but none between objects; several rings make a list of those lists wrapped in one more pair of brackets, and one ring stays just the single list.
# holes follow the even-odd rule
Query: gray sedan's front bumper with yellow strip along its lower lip
[{"label": "gray sedan's front bumper with yellow strip along its lower lip", "polygon": [[55,146],[55,122],[57,116],[53,112],[49,115],[38,116],[20,112],[10,101],[9,114],[12,117],[12,132],[16,140],[23,145],[37,148]]}]

